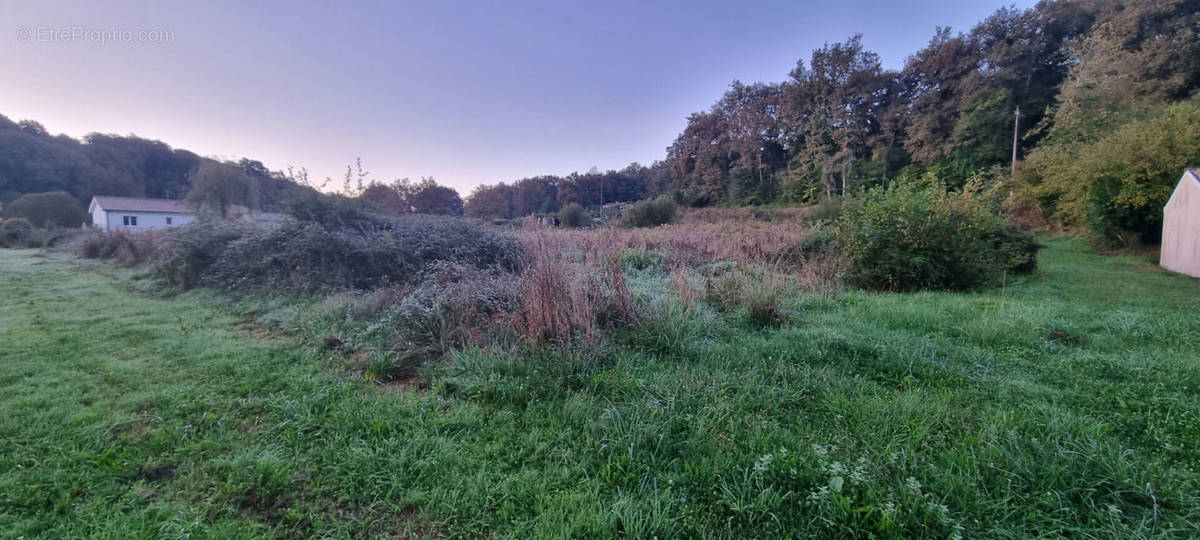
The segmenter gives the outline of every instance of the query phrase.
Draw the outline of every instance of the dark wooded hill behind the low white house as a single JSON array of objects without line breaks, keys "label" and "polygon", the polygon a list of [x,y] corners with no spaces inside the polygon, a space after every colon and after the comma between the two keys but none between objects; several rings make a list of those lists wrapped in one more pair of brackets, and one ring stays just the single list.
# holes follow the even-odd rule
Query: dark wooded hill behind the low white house
[{"label": "dark wooded hill behind the low white house", "polygon": [[[384,185],[367,173],[347,168],[341,191],[332,179],[311,181],[307,172],[270,170],[242,158],[218,162],[158,140],[134,136],[90,133],[82,140],[52,136],[34,120],[0,115],[0,204],[4,217],[47,220],[77,227],[94,196],[184,199],[200,211],[224,215],[230,206],[264,211],[311,211],[317,199],[384,214],[462,215],[462,199],[433,179],[397,180]],[[64,194],[65,193],[65,194]],[[78,205],[64,209],[64,197]],[[49,200],[47,205],[43,202]],[[337,203],[341,200],[341,203]],[[46,210],[54,206],[54,211]],[[40,209],[25,211],[25,209]],[[61,215],[70,214],[71,218]],[[77,217],[83,216],[83,217]]]}]

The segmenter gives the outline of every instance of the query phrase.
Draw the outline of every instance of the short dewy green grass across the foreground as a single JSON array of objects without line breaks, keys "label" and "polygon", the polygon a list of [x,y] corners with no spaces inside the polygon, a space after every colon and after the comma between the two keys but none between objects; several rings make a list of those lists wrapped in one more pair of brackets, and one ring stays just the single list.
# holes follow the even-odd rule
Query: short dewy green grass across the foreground
[{"label": "short dewy green grass across the foreground", "polygon": [[1200,535],[1200,284],[1073,240],[426,390],[142,280],[0,250],[0,536]]}]

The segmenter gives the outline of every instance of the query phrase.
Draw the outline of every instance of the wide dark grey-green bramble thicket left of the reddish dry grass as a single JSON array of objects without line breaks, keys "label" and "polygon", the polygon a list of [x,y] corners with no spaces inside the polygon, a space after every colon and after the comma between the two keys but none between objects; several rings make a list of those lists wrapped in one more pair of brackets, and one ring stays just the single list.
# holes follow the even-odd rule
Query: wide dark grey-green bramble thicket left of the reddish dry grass
[{"label": "wide dark grey-green bramble thicket left of the reddish dry grass", "polygon": [[374,227],[299,220],[269,229],[187,226],[176,234],[160,275],[181,287],[372,289],[415,284],[438,262],[515,271],[522,257],[516,240],[455,217],[401,217]]}]

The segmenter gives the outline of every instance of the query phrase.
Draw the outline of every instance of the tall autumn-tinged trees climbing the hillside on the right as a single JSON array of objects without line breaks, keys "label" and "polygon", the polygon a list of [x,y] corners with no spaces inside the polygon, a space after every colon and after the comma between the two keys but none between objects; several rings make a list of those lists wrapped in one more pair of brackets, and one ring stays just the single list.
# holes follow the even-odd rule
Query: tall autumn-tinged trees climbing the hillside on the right
[{"label": "tall autumn-tinged trees climbing the hillside on the right", "polygon": [[[1198,24],[1198,0],[1042,1],[998,10],[967,32],[938,29],[899,71],[854,36],[814,50],[781,83],[734,82],[688,119],[660,163],[482,186],[467,211],[512,217],[662,193],[692,205],[811,204],[898,180],[960,187],[1007,173],[1018,109],[1019,161],[1046,164],[1056,160],[1039,149],[1078,154],[1194,95]],[[1172,166],[1188,152],[1176,149],[1183,157]],[[1086,221],[1057,203],[1088,199],[1079,186],[1090,181],[1076,170],[1072,190],[1057,173],[1027,170],[1021,181],[1054,217]],[[600,197],[599,185],[612,194]]]}]

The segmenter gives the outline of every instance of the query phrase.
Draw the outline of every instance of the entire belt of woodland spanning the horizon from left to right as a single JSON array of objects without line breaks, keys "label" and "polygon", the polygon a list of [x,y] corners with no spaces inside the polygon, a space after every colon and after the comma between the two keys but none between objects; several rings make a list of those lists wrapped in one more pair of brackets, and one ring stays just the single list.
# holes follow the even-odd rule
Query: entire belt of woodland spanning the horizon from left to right
[{"label": "entire belt of woodland spanning the horizon from left to right", "polygon": [[[800,59],[782,82],[733,82],[649,166],[484,185],[466,203],[431,179],[385,184],[359,167],[338,194],[389,214],[504,220],[664,194],[696,206],[814,204],[894,182],[978,180],[1003,184],[1051,221],[1154,242],[1171,184],[1200,164],[1198,36],[1200,0],[1001,8],[967,32],[938,29],[899,71],[852,36]],[[157,140],[76,140],[0,116],[0,202],[49,191],[83,203],[179,198],[196,191],[205,161]],[[251,160],[223,167],[250,179],[245,198],[268,210],[298,186],[329,184]]]}]

